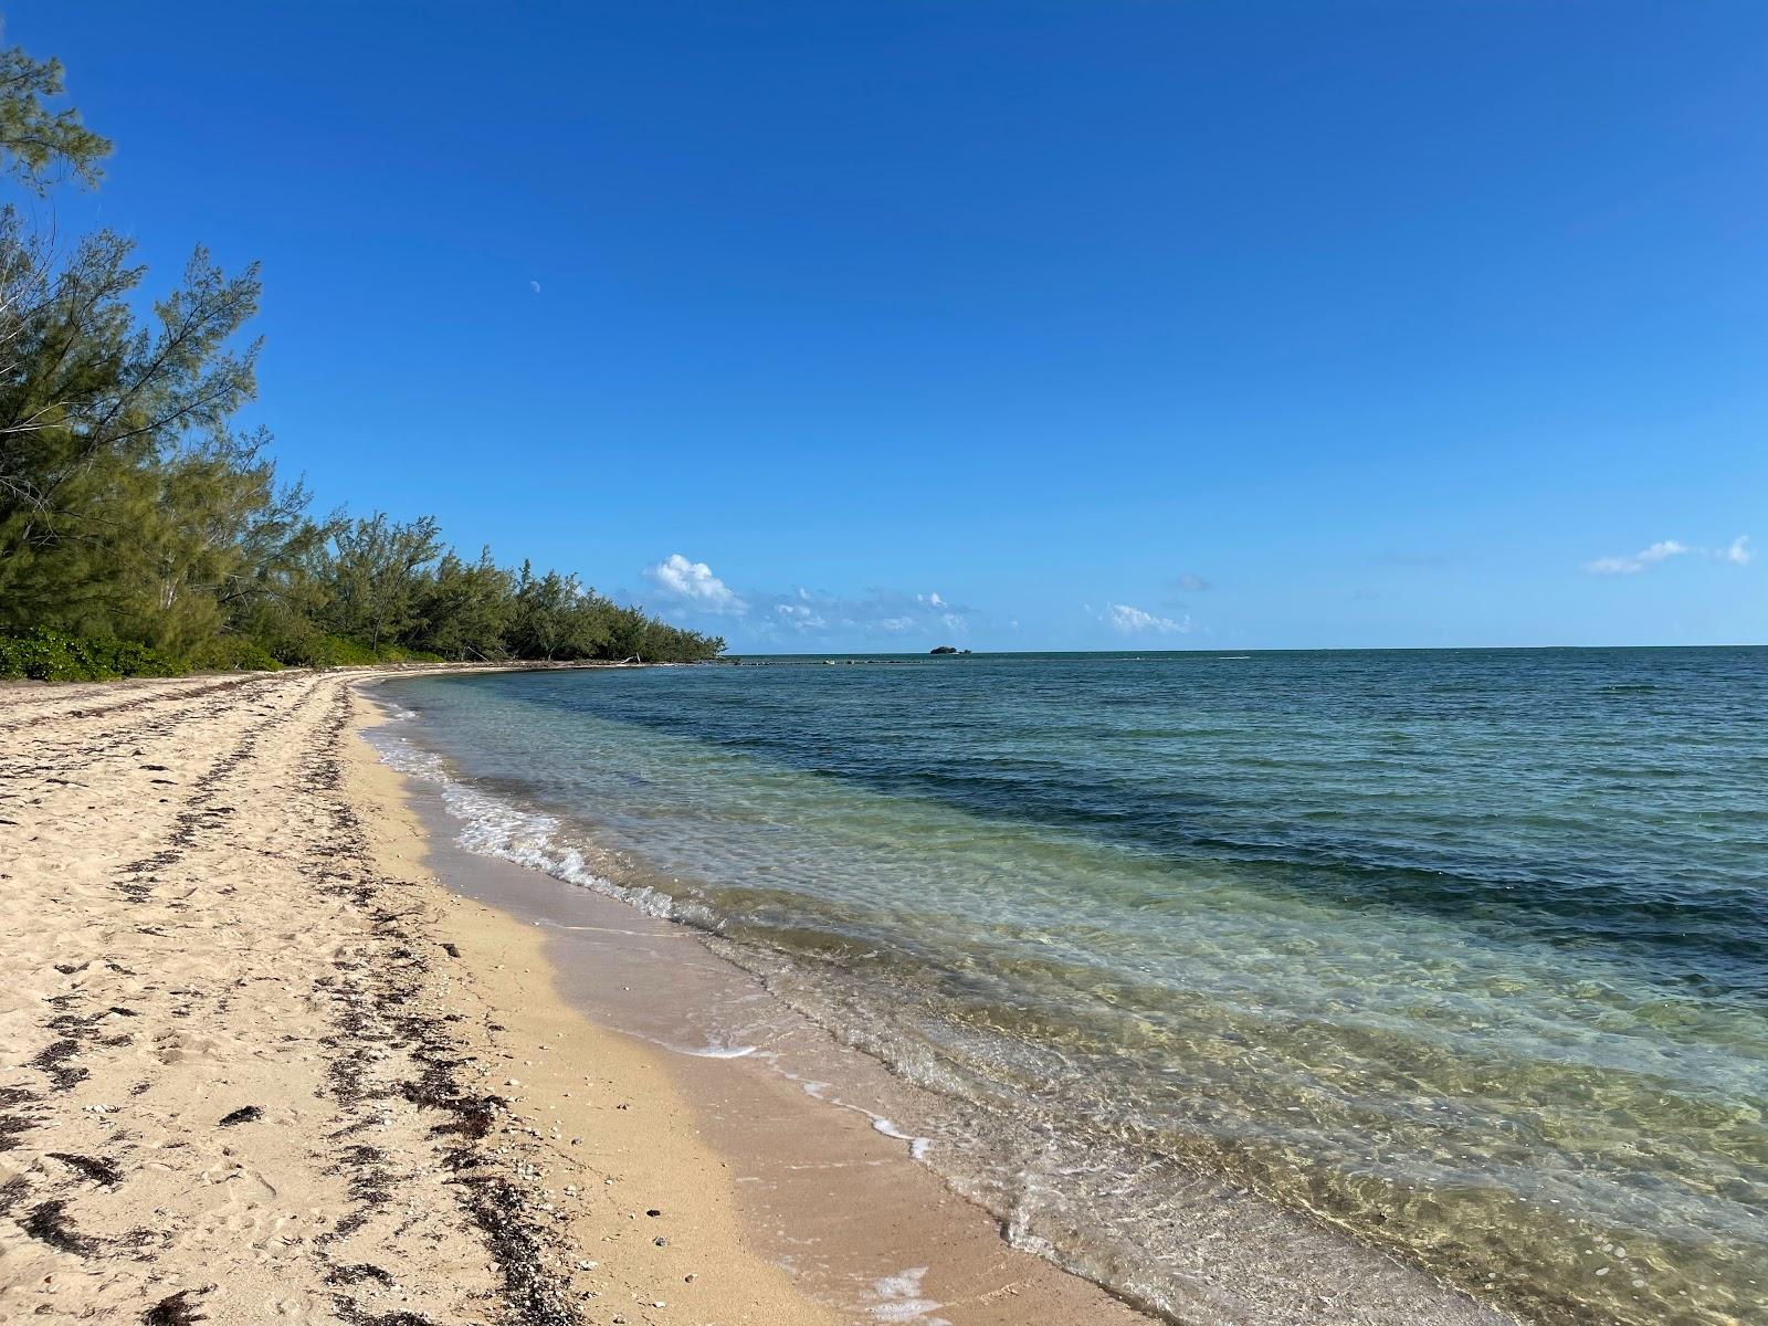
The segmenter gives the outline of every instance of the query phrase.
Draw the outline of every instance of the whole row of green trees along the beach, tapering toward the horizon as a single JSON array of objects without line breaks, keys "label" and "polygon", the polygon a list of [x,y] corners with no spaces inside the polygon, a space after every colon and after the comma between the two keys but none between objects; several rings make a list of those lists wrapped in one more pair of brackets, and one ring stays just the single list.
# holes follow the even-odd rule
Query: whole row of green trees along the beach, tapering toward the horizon
[{"label": "whole row of green trees along the beach, tapering toward the horizon", "polygon": [[[110,143],[55,60],[0,51],[0,168],[37,198],[95,186]],[[460,557],[433,518],[315,516],[281,483],[255,398],[256,267],[196,249],[140,318],[133,244],[65,251],[0,209],[0,675],[378,659],[695,661],[723,640],[578,583]]]}]

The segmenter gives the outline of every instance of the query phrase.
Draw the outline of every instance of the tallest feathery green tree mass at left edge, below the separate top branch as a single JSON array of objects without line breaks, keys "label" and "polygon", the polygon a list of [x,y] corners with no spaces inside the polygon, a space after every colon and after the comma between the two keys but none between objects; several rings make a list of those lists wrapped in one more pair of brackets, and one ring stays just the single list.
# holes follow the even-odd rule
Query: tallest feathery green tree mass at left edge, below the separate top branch
[{"label": "tallest feathery green tree mass at left edge, below the separate top branch", "polygon": [[216,635],[248,571],[253,522],[274,506],[263,438],[226,431],[255,394],[255,272],[230,279],[198,249],[184,283],[138,327],[141,271],[95,235],[41,267],[16,212],[0,214],[0,628],[145,640],[170,652]]}]

